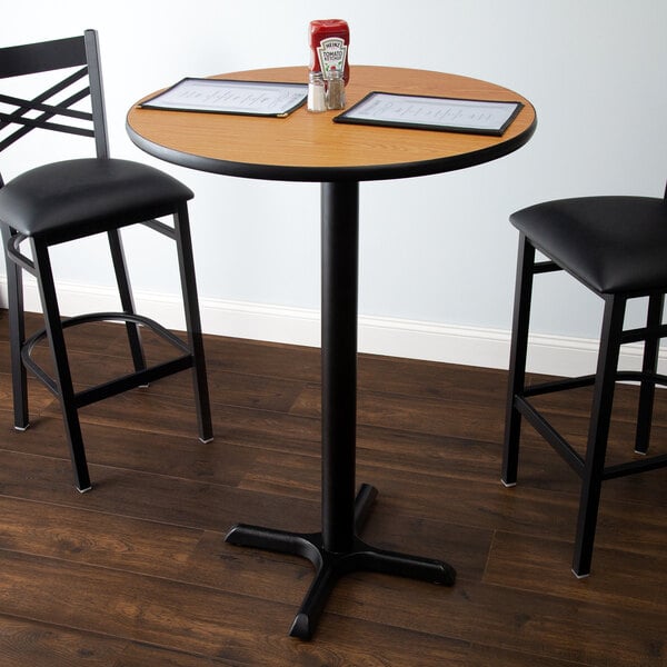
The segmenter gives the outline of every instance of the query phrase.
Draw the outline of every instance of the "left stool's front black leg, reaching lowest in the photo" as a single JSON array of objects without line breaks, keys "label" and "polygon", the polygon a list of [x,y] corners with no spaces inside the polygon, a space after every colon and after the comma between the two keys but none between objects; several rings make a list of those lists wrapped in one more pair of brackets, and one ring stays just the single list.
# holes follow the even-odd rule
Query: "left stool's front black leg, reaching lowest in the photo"
[{"label": "left stool's front black leg, reaching lowest in the photo", "polygon": [[56,286],[53,283],[53,273],[51,261],[49,259],[48,247],[32,240],[32,256],[37,269],[37,279],[44,313],[44,323],[47,337],[51,348],[51,357],[56,374],[56,384],[64,430],[70,448],[70,458],[74,472],[74,484],[79,491],[90,490],[90,477],[88,475],[88,464],[86,462],[86,451],[83,449],[83,437],[81,435],[81,425],[79,422],[79,412],[76,402],[74,388],[62,334],[62,323],[60,310],[56,296]]}]

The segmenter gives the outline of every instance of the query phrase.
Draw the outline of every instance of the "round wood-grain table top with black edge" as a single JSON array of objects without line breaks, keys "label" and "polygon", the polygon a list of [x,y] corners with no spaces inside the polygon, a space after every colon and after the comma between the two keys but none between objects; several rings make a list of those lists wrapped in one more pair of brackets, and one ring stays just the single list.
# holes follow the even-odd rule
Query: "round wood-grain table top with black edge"
[{"label": "round wood-grain table top with black edge", "polygon": [[[257,81],[307,82],[306,67],[219,74]],[[407,178],[480,165],[524,146],[532,136],[532,104],[506,88],[441,72],[352,66],[347,109],[374,90],[477,100],[521,101],[525,107],[501,137],[332,121],[340,111],[287,118],[142,109],[127,117],[142,150],[185,167],[268,180],[345,181]]]}]

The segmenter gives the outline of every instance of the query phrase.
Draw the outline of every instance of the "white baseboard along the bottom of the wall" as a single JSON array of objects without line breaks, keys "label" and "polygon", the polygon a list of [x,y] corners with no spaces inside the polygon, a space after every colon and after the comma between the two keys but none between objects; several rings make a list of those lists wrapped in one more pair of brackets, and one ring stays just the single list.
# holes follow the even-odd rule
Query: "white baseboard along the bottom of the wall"
[{"label": "white baseboard along the bottom of the wall", "polygon": [[[63,315],[118,310],[113,289],[59,285]],[[26,309],[39,312],[38,290],[26,279]],[[185,319],[179,299],[172,295],[136,293],[137,308],[168,328],[182,329]],[[0,307],[7,307],[7,279],[0,276]],[[316,347],[320,344],[319,311],[200,297],[202,327],[207,334],[270,340]],[[509,331],[459,327],[396,318],[359,316],[359,350],[375,355],[425,359],[465,366],[507,368]],[[641,346],[625,346],[624,368],[639,368]],[[575,376],[595,370],[597,340],[561,336],[532,336],[528,357],[531,372]],[[667,356],[660,356],[666,372]]]}]

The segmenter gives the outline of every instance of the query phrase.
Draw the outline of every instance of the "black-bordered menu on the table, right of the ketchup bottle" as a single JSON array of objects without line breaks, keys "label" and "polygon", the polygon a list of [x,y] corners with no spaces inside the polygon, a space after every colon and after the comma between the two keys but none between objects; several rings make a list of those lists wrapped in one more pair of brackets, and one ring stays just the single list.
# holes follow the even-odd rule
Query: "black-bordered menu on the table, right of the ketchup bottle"
[{"label": "black-bordered menu on the table, right of the ketchup bottle", "polygon": [[334,121],[500,137],[522,107],[518,101],[374,91]]}]

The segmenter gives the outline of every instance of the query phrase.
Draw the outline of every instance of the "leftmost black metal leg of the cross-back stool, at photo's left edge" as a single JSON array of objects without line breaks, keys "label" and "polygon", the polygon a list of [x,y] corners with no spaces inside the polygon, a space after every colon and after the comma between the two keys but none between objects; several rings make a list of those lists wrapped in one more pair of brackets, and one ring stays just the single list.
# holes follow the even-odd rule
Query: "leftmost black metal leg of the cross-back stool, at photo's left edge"
[{"label": "leftmost black metal leg of the cross-back stool, at photo's left edge", "polygon": [[[14,230],[2,225],[2,241],[9,243]],[[14,428],[26,430],[30,426],[28,410],[28,376],[21,361],[21,348],[26,341],[23,315],[23,270],[4,253],[7,265],[7,291],[9,306],[9,345],[11,357],[11,387],[13,396]]]}]

